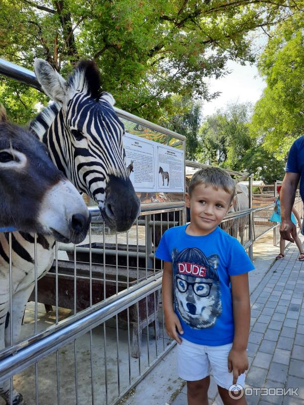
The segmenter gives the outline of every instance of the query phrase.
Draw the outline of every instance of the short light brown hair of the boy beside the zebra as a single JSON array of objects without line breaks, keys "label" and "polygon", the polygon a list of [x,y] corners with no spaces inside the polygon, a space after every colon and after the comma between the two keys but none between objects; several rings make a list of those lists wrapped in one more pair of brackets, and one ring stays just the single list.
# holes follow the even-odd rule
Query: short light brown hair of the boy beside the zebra
[{"label": "short light brown hair of the boy beside the zebra", "polygon": [[220,168],[204,168],[196,172],[191,179],[188,194],[191,194],[196,186],[199,184],[207,184],[215,187],[216,189],[222,188],[226,193],[231,195],[231,200],[236,193],[235,181],[230,177],[230,175]]}]

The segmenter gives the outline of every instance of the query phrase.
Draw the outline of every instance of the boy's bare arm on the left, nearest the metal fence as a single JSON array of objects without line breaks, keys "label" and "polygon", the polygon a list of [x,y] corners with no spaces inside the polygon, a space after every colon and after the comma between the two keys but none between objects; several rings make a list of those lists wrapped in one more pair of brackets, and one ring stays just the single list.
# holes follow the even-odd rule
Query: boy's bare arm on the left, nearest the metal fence
[{"label": "boy's bare arm on the left, nearest the metal fence", "polygon": [[181,344],[181,339],[178,336],[177,330],[179,334],[183,334],[183,330],[181,328],[179,318],[174,312],[173,308],[172,280],[173,280],[172,263],[164,261],[162,298],[163,298],[166,331],[167,334],[170,336],[170,338],[176,340],[177,343]]}]

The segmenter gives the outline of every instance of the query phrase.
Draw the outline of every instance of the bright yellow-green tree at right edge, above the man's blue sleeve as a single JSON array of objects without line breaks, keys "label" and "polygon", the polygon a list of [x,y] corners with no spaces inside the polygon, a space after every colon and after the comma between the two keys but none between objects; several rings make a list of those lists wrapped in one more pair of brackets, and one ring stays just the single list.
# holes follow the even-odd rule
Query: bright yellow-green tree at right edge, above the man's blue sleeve
[{"label": "bright yellow-green tree at right edge, above the man's blue sleeve", "polygon": [[251,133],[279,159],[304,133],[303,29],[299,13],[280,24],[259,61],[267,87],[255,105]]}]

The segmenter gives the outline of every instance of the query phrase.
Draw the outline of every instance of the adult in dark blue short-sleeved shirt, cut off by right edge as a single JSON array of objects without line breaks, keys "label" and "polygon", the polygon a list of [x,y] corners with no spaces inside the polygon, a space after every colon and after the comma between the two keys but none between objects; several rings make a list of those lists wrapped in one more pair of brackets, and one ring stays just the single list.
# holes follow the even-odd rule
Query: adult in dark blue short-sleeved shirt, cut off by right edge
[{"label": "adult in dark blue short-sleeved shirt, cut off by right edge", "polygon": [[[299,182],[300,195],[304,201],[304,136],[296,139],[289,150],[280,196],[282,218],[280,233],[283,239],[290,242],[294,242],[297,236],[296,226],[291,221],[290,215]],[[304,224],[302,235],[304,235],[303,226]]]}]

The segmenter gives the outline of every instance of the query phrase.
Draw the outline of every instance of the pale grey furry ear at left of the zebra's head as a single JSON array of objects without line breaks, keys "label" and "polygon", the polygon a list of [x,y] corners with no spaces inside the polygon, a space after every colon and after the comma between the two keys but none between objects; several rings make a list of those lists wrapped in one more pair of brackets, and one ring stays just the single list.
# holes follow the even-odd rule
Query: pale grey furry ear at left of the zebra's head
[{"label": "pale grey furry ear at left of the zebra's head", "polygon": [[34,70],[44,92],[56,103],[62,105],[67,94],[67,86],[64,78],[52,65],[43,59],[35,59]]}]

